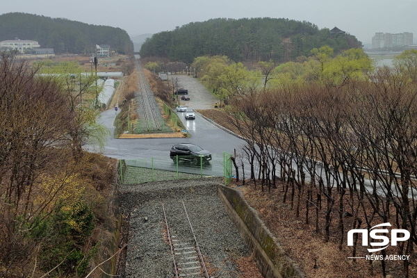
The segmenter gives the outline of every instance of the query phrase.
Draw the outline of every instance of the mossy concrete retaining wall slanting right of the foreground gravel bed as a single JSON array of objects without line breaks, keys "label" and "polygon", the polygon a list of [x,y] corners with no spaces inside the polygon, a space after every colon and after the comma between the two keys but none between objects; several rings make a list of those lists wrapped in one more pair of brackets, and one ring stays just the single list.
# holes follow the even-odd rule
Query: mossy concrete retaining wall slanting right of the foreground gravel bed
[{"label": "mossy concrete retaining wall slanting right of the foreground gravel bed", "polygon": [[240,235],[254,254],[259,271],[265,278],[304,277],[265,224],[258,213],[247,204],[243,194],[234,188],[219,185],[219,197]]}]

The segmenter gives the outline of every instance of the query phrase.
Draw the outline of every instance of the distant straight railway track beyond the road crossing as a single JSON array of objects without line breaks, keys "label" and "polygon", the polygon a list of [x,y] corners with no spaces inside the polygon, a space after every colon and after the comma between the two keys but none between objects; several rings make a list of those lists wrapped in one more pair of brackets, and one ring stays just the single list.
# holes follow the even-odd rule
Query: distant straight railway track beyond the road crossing
[{"label": "distant straight railway track beyond the road crossing", "polygon": [[138,103],[140,104],[140,108],[138,112],[140,115],[140,131],[161,131],[163,128],[163,119],[156,104],[154,92],[149,88],[149,83],[147,83],[146,76],[138,61],[136,61],[136,67],[138,68],[139,79]]}]

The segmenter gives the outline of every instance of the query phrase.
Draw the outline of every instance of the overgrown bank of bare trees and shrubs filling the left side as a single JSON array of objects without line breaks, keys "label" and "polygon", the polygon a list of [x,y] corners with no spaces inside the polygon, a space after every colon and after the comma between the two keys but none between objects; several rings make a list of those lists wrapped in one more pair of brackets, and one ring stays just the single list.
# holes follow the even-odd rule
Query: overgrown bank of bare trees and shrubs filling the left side
[{"label": "overgrown bank of bare trees and shrubs filling the left side", "polygon": [[116,164],[83,150],[108,136],[95,122],[95,76],[40,67],[0,53],[0,277],[85,277],[109,254]]}]

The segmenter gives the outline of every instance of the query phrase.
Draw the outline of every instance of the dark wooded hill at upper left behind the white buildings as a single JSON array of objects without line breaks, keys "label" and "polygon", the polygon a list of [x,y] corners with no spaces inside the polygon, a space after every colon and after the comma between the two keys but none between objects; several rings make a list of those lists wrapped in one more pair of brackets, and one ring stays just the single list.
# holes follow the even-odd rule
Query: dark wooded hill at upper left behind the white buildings
[{"label": "dark wooded hill at upper left behind the white buildings", "polygon": [[15,38],[35,40],[42,48],[53,48],[56,54],[90,53],[96,44],[108,44],[120,54],[133,53],[133,42],[122,28],[28,13],[0,15],[0,41]]}]

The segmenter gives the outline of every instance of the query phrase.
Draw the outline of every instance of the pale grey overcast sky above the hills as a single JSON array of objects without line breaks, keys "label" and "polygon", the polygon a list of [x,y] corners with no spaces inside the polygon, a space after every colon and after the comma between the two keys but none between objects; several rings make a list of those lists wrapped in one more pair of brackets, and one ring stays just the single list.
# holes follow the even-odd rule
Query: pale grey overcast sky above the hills
[{"label": "pale grey overcast sky above the hills", "polygon": [[0,13],[12,12],[119,27],[131,37],[219,17],[284,17],[337,26],[363,44],[377,32],[411,32],[417,42],[417,0],[0,0]]}]

